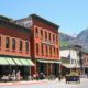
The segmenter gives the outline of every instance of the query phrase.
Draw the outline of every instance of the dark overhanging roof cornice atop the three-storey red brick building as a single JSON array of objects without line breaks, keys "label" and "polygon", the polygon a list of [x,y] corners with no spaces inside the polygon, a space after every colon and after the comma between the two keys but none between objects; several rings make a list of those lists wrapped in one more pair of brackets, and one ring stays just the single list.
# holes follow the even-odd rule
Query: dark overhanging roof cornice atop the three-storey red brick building
[{"label": "dark overhanging roof cornice atop the three-storey red brick building", "polygon": [[58,28],[59,28],[57,24],[55,24],[55,23],[53,23],[53,22],[51,22],[51,21],[48,21],[48,20],[46,20],[46,19],[37,15],[37,14],[31,14],[30,16],[35,18],[35,19],[38,19],[38,20],[41,20],[41,21],[43,21],[43,22],[45,22],[45,23],[47,23],[47,24],[50,24],[50,25],[53,25],[53,26],[55,26],[57,30],[58,30]]}]

